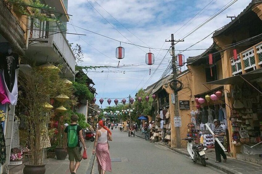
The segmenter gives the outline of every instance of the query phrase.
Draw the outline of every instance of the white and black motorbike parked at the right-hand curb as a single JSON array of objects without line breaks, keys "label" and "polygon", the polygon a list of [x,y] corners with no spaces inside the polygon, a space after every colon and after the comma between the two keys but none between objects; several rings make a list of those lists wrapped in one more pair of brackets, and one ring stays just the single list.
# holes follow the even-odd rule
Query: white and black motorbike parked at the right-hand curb
[{"label": "white and black motorbike parked at the right-hand curb", "polygon": [[186,140],[187,143],[187,149],[188,153],[193,160],[194,163],[197,161],[201,162],[203,166],[206,166],[206,161],[208,158],[205,158],[205,150],[207,148],[204,148],[202,145],[197,145],[194,142],[194,138],[188,137],[181,140]]}]

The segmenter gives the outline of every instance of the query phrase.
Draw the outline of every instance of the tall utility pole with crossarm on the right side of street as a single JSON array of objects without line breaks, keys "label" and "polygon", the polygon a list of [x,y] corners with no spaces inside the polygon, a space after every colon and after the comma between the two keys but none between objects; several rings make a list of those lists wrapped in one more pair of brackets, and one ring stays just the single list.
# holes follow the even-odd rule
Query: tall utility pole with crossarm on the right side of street
[{"label": "tall utility pole with crossarm on the right side of street", "polygon": [[[171,42],[171,49],[172,49],[172,68],[173,68],[173,80],[175,83],[175,87],[177,87],[177,83],[175,82],[175,80],[177,80],[177,72],[176,72],[176,56],[175,56],[175,42],[184,42],[184,40],[178,40],[175,41],[174,40],[174,34],[171,34],[171,40],[166,41],[166,42]],[[178,111],[178,95],[177,95],[177,91],[174,91],[174,95],[175,95],[175,115],[179,116],[179,111]],[[174,118],[175,119],[175,118]],[[172,120],[170,120],[172,121]],[[174,122],[174,120],[173,120]],[[177,148],[181,148],[181,140],[180,140],[180,127],[175,127],[175,132],[176,132],[176,143],[177,143]]]}]

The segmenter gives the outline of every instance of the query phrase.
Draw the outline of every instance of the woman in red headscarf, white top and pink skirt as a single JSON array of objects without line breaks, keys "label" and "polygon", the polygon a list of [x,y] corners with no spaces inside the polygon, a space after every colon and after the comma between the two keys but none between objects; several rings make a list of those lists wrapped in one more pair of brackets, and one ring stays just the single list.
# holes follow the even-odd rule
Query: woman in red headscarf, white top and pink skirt
[{"label": "woman in red headscarf, white top and pink skirt", "polygon": [[96,161],[99,174],[111,172],[111,158],[109,153],[108,141],[112,141],[112,132],[105,126],[105,123],[99,121],[99,130],[96,131],[93,155],[96,152]]}]

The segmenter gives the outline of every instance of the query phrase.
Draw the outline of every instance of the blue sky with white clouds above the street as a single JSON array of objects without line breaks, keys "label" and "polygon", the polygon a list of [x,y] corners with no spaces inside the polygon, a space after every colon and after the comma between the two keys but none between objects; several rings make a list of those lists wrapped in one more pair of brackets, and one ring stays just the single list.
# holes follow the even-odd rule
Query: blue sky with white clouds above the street
[{"label": "blue sky with white clouds above the street", "polygon": [[[102,107],[108,106],[110,98],[121,101],[129,95],[157,82],[167,69],[171,55],[168,52],[171,33],[175,40],[184,38],[190,31],[235,0],[69,0],[68,33],[70,43],[80,44],[84,52],[79,66],[113,66],[87,71],[95,83],[97,104],[104,98]],[[214,30],[230,22],[226,16],[237,16],[251,0],[238,0],[221,14],[175,45],[175,50],[183,50],[211,34]],[[196,15],[196,16],[195,16]],[[195,17],[194,17],[195,16]],[[190,21],[189,21],[190,20]],[[189,22],[188,22],[189,21]],[[188,22],[188,23],[187,23]],[[186,24],[186,25],[184,25]],[[183,26],[184,25],[184,26]],[[182,28],[181,28],[182,27]],[[86,30],[84,30],[86,29]],[[113,38],[109,39],[98,34]],[[212,35],[190,49],[206,49],[212,43]],[[154,49],[121,43],[125,48],[125,58],[116,59],[116,47],[120,42],[128,42]],[[157,48],[157,49],[155,49]],[[162,49],[162,50],[160,50]],[[145,63],[146,53],[151,51],[155,57],[154,65]],[[187,59],[205,50],[184,51]],[[178,54],[179,51],[175,51]],[[184,70],[186,67],[181,67]],[[151,69],[151,73],[150,73]],[[171,70],[167,74],[170,74]],[[128,100],[128,99],[127,99]]]}]

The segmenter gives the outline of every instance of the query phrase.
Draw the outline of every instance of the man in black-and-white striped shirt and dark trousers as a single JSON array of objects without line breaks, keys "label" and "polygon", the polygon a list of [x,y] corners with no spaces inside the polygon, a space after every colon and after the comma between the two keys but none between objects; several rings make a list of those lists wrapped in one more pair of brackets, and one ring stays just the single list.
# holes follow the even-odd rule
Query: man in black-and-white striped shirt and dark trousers
[{"label": "man in black-and-white striped shirt and dark trousers", "polygon": [[[218,138],[218,140],[223,144],[225,131],[223,127],[220,126],[220,121],[218,119],[214,119],[213,123],[215,124],[214,137]],[[223,161],[226,162],[226,154],[223,151],[223,149],[219,146],[217,141],[215,141],[215,152],[216,152],[216,163],[221,163],[221,155],[224,159]]]}]

